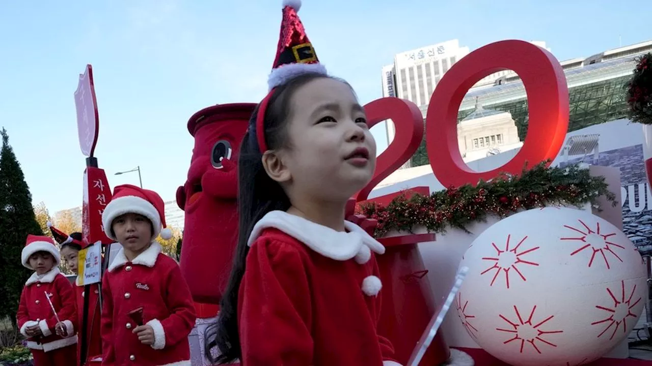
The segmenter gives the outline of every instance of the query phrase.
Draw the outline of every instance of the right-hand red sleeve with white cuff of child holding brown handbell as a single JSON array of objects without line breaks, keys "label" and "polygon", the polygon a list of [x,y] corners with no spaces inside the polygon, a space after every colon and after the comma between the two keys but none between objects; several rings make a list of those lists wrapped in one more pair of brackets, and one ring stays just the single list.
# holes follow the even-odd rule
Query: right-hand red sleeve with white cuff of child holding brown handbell
[{"label": "right-hand red sleeve with white cuff of child holding brown handbell", "polygon": [[190,294],[186,280],[181,275],[178,264],[172,264],[172,268],[168,271],[164,281],[165,302],[170,311],[170,316],[147,322],[154,330],[152,348],[155,350],[176,345],[180,341],[187,341],[188,334],[190,334],[192,327],[195,326],[196,319],[192,294]]}]

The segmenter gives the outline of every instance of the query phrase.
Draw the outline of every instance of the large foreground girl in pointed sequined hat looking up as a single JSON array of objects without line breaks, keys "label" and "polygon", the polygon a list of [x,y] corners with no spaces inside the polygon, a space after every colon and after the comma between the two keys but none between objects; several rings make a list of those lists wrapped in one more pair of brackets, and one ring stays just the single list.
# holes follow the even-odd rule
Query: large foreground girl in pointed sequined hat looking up
[{"label": "large foreground girl in pointed sequined hat looking up", "polygon": [[378,334],[385,248],[344,220],[376,143],[351,86],[326,74],[286,1],[270,91],[241,146],[239,241],[208,347],[245,365],[398,365]]}]

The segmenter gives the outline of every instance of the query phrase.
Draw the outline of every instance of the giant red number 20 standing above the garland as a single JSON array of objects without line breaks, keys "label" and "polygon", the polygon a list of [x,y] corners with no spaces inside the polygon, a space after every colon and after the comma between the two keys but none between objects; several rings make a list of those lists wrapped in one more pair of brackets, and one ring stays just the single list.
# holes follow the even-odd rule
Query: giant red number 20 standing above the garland
[{"label": "giant red number 20 standing above the garland", "polygon": [[[460,154],[457,116],[466,92],[482,77],[501,70],[514,70],[527,92],[529,126],[520,151],[505,165],[476,172]],[[419,147],[423,131],[421,112],[412,102],[381,98],[365,107],[370,126],[392,119],[396,137],[378,158],[376,174],[361,190],[356,201],[405,163]],[[445,187],[477,184],[499,173],[518,175],[526,163],[553,160],[563,145],[569,122],[569,92],[563,69],[545,49],[521,40],[505,40],[479,48],[454,64],[437,84],[426,115],[426,150],[430,166]]]}]

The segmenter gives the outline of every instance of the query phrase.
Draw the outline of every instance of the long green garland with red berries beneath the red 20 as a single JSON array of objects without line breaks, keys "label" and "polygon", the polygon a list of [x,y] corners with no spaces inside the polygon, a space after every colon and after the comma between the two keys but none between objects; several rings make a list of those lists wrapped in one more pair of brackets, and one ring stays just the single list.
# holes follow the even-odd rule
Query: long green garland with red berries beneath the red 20
[{"label": "long green garland with red berries beneath the red 20", "polygon": [[429,232],[445,232],[448,226],[467,231],[467,225],[486,221],[490,215],[503,218],[517,210],[552,204],[580,207],[595,204],[603,195],[617,204],[604,177],[591,176],[589,169],[578,165],[546,167],[547,163],[524,169],[520,176],[503,174],[475,187],[451,187],[428,196],[404,194],[387,206],[362,204],[357,213],[378,221],[375,236],[379,238],[391,231],[412,232],[415,227],[425,227]]}]

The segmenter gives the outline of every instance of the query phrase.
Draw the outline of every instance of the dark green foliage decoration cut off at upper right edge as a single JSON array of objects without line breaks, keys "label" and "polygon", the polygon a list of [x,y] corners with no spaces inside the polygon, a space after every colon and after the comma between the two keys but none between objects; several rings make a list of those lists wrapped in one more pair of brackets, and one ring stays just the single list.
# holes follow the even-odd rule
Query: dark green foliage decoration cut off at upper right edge
[{"label": "dark green foliage decoration cut off at upper right edge", "polygon": [[627,83],[627,105],[632,122],[652,124],[652,53],[637,59],[634,74]]}]

